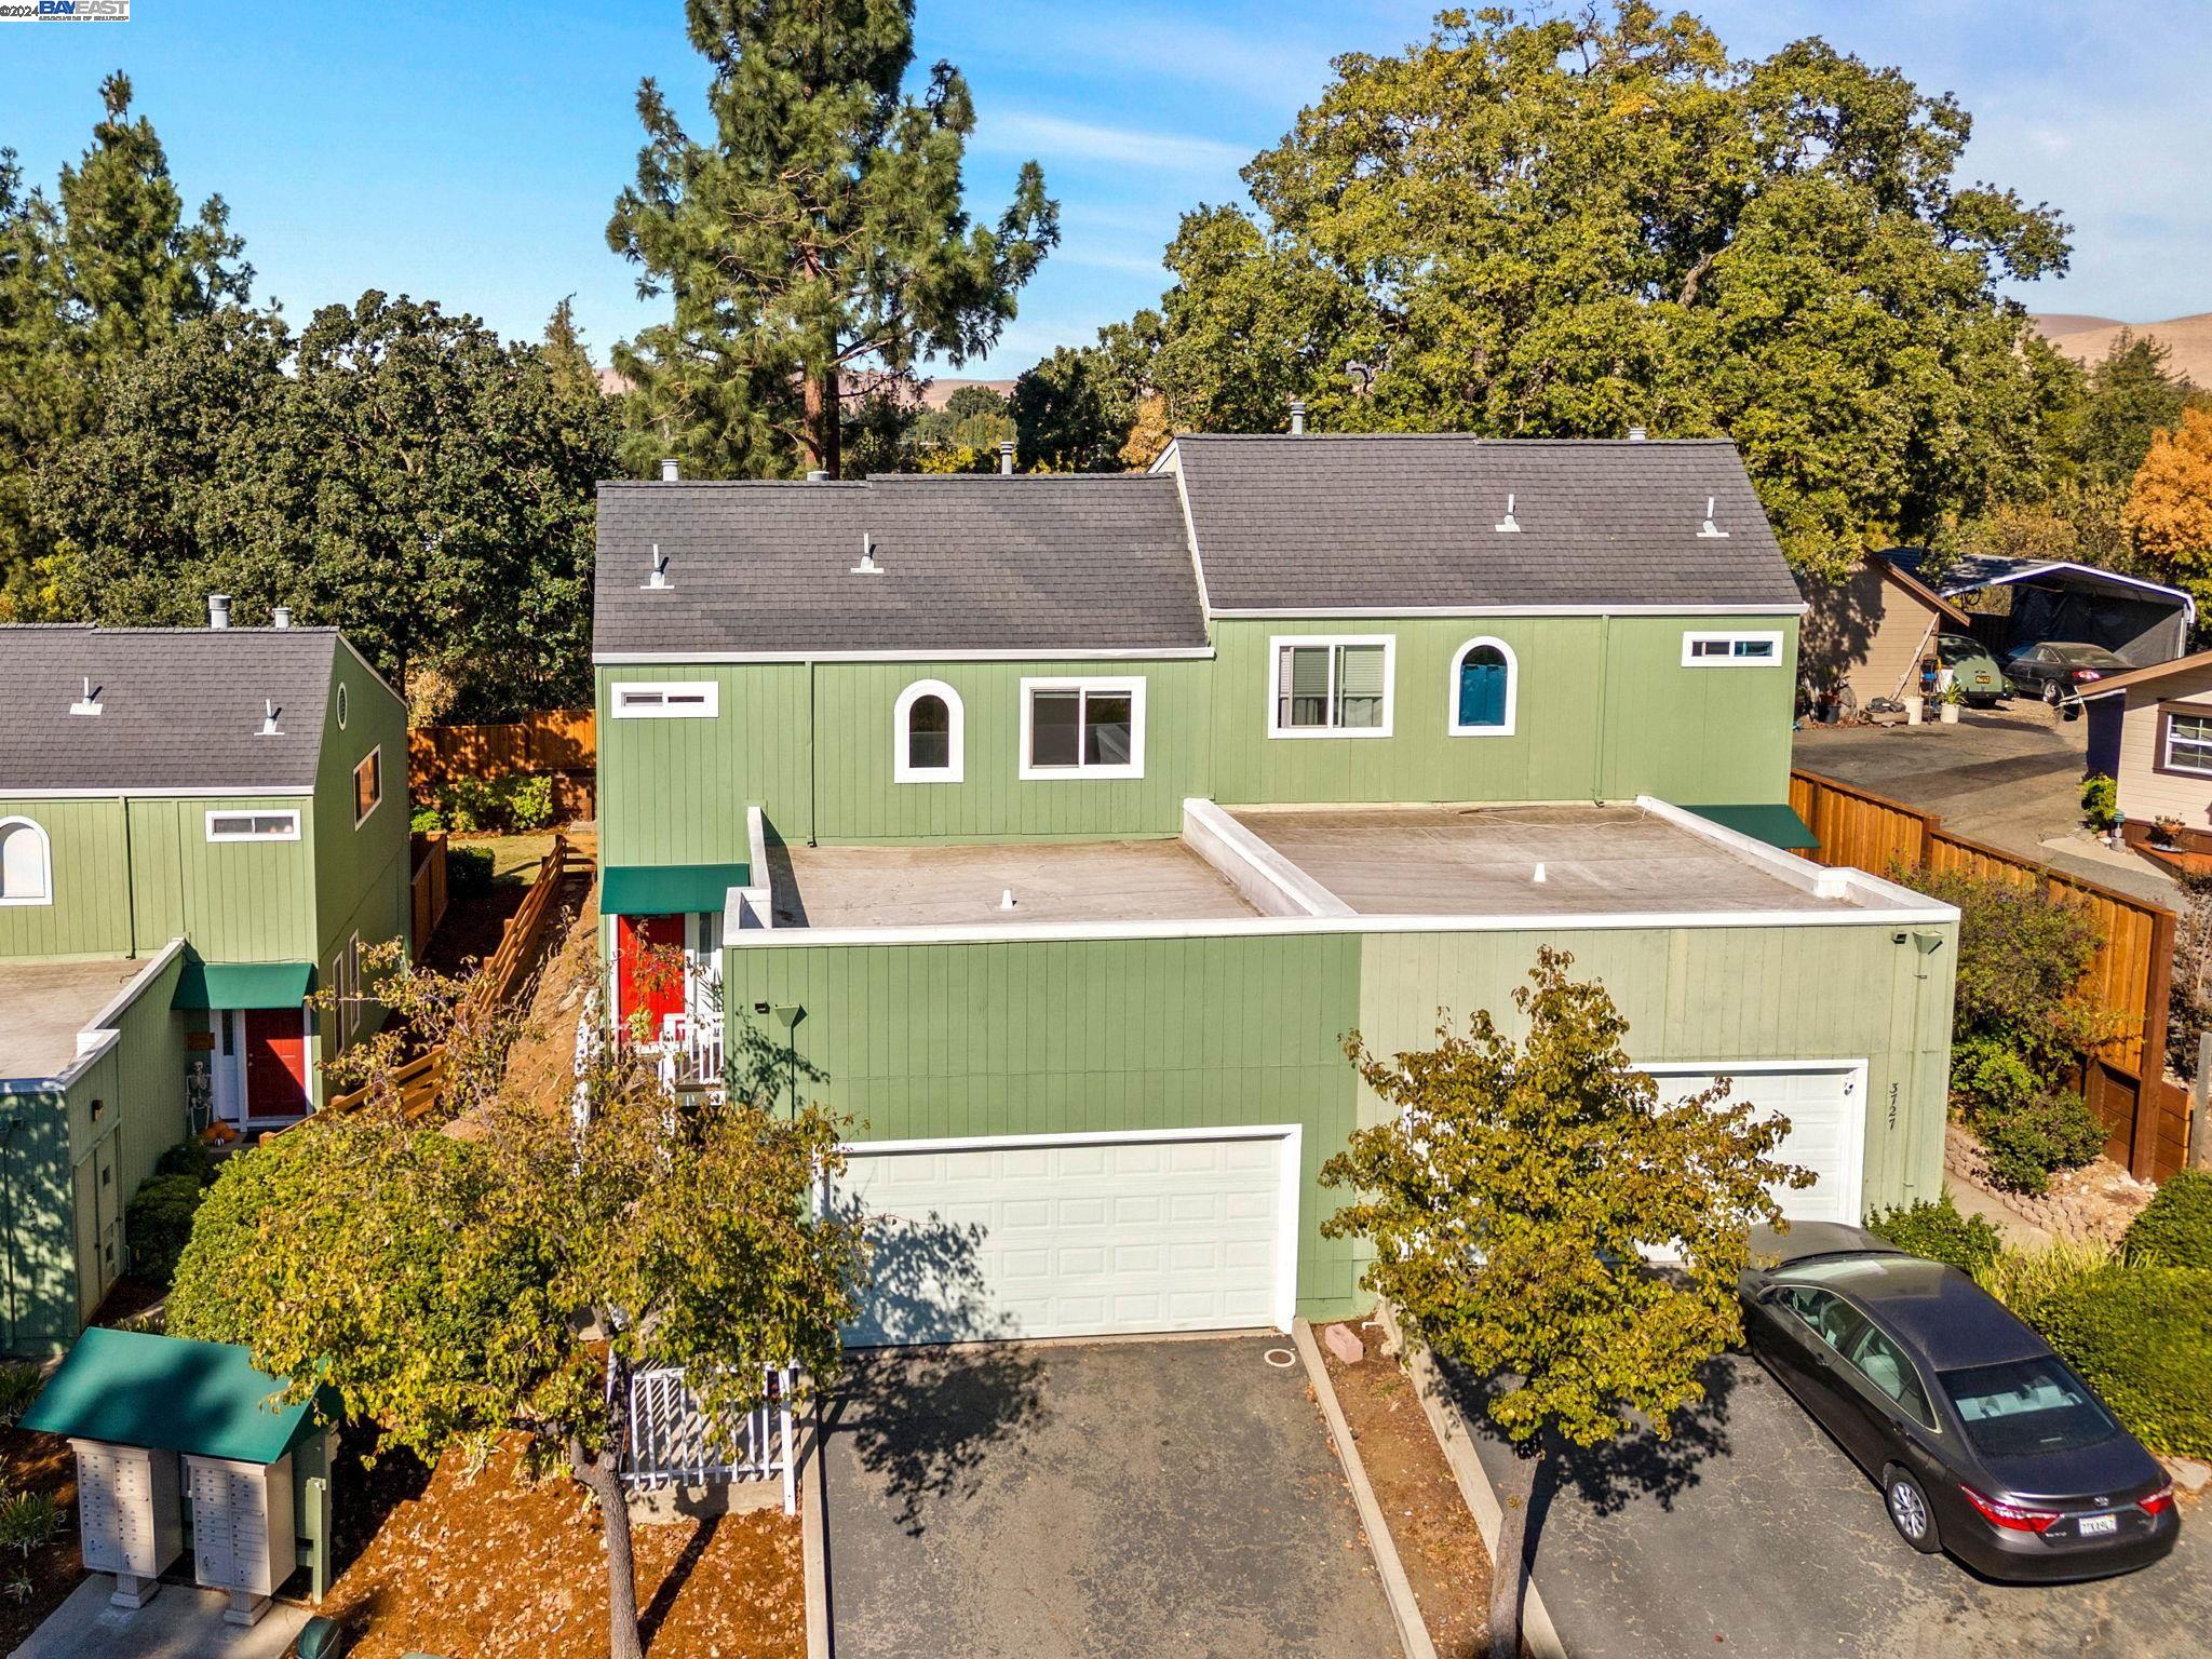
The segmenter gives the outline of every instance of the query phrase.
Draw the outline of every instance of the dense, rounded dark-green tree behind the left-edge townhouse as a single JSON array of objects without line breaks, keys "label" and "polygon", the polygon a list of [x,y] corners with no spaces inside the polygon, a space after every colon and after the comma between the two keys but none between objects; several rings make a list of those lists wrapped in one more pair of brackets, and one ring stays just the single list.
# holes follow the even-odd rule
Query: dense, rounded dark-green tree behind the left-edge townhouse
[{"label": "dense, rounded dark-green tree behind the left-edge townhouse", "polygon": [[241,619],[290,604],[482,717],[588,697],[613,447],[608,400],[564,389],[542,347],[372,290],[296,341],[226,310],[131,358],[35,509],[66,615],[190,624],[210,588]]}]

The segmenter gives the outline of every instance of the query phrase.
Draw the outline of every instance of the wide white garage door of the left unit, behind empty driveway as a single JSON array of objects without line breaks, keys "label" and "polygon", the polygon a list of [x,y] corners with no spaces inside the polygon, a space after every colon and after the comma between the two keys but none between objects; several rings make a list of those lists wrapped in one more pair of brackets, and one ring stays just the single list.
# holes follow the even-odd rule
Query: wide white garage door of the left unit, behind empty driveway
[{"label": "wide white garage door of the left unit, behind empty driveway", "polygon": [[1290,1318],[1296,1137],[856,1146],[834,1201],[889,1221],[854,1345],[1203,1332]]}]

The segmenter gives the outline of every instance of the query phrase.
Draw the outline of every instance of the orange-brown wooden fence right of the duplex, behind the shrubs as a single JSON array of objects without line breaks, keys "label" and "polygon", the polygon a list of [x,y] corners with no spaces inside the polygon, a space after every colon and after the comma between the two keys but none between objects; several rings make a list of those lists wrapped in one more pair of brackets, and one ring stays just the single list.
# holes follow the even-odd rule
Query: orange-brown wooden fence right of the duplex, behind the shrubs
[{"label": "orange-brown wooden fence right of the duplex, behind the shrubs", "polygon": [[2188,1091],[2166,1077],[2166,1011],[2174,971],[2174,914],[2117,887],[2064,876],[1984,841],[1951,834],[1942,818],[1814,772],[1790,774],[1790,805],[1820,841],[1827,865],[1882,876],[1927,869],[2042,885],[2084,909],[2104,940],[2084,978],[2090,1000],[2126,1020],[2119,1037],[2081,1057],[2081,1097],[2104,1119],[2106,1155],[2137,1179],[2163,1181],[2188,1164]]}]

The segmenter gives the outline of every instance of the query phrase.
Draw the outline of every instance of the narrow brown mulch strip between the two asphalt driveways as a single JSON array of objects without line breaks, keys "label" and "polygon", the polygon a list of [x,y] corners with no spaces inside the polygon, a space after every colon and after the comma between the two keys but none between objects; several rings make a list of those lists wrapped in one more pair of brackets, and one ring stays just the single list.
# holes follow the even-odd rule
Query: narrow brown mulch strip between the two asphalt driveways
[{"label": "narrow brown mulch strip between the two asphalt driveways", "polygon": [[1422,1624],[1444,1659],[1480,1659],[1489,1652],[1491,1617],[1491,1555],[1482,1548],[1482,1531],[1436,1444],[1413,1378],[1383,1352],[1380,1327],[1360,1329],[1352,1321],[1345,1329],[1360,1338],[1367,1358],[1343,1365],[1323,1345],[1323,1365],[1413,1584]]}]

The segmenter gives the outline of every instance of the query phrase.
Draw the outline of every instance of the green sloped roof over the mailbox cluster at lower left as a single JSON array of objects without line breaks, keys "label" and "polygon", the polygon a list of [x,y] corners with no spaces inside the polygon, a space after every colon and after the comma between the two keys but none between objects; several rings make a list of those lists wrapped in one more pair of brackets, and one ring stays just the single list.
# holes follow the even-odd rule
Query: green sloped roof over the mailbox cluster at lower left
[{"label": "green sloped roof over the mailbox cluster at lower left", "polygon": [[301,1405],[254,1369],[252,1349],[93,1327],[22,1413],[24,1429],[115,1447],[270,1464],[336,1420],[327,1389]]}]

